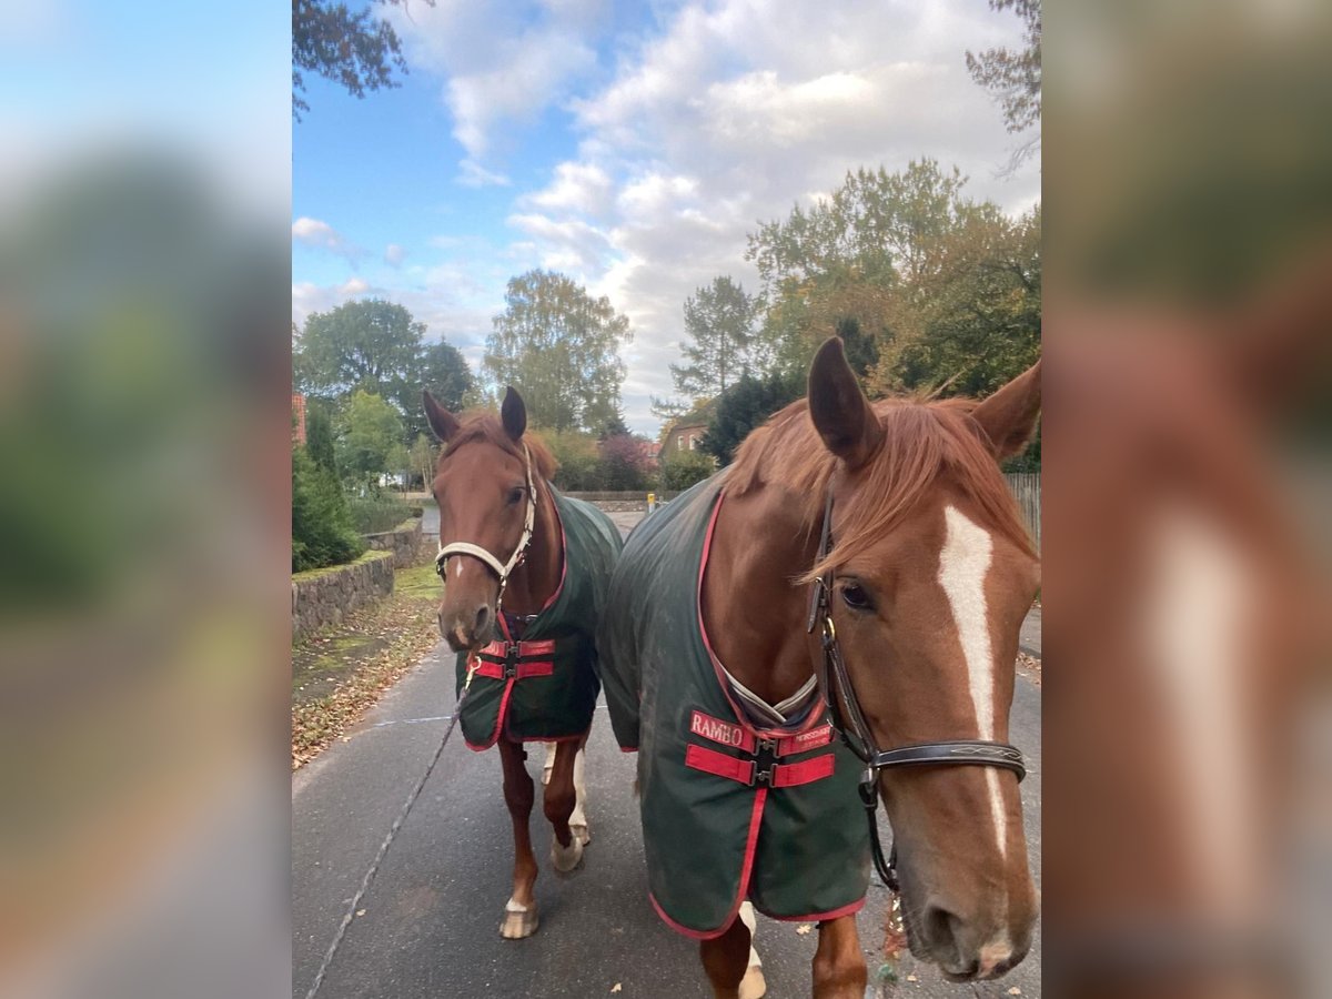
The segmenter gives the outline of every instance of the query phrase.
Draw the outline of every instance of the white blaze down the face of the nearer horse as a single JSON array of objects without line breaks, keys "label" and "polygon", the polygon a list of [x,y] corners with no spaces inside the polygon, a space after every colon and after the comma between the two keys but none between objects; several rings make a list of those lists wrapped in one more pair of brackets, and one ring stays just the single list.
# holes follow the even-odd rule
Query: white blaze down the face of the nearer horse
[{"label": "white blaze down the face of the nearer horse", "polygon": [[[995,663],[990,646],[990,613],[986,606],[986,577],[994,553],[990,533],[955,506],[943,510],[944,537],[939,551],[939,585],[948,597],[958,641],[967,662],[971,706],[976,715],[976,738],[995,738]],[[986,767],[990,815],[995,823],[999,855],[1007,855],[1008,823],[999,794],[999,773]]]}]

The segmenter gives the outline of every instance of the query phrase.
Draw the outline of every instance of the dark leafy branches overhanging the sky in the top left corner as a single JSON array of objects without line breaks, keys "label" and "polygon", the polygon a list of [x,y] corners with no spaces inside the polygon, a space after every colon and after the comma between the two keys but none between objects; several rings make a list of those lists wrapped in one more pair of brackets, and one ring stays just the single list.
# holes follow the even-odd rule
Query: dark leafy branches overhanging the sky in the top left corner
[{"label": "dark leafy branches overhanging the sky in the top left corner", "polygon": [[[406,7],[406,0],[378,0],[384,5]],[[425,0],[434,7],[434,0]],[[292,4],[292,115],[297,121],[310,105],[305,93],[305,73],[317,73],[342,84],[353,97],[366,91],[398,85],[393,68],[408,72],[402,43],[393,25],[376,16],[373,7],[352,13],[346,4],[332,0],[293,0]]]}]

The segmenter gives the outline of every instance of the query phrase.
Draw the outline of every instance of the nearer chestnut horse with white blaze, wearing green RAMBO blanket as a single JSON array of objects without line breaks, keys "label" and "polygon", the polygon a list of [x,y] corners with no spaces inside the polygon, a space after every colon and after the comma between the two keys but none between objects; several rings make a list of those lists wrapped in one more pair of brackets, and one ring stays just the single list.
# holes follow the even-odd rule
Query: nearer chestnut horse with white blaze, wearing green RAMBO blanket
[{"label": "nearer chestnut horse with white blaze, wearing green RAMBO blanket", "polygon": [[702,940],[717,996],[753,994],[745,900],[819,923],[815,996],[864,995],[863,763],[821,694],[843,698],[817,686],[829,634],[840,694],[887,749],[870,755],[891,767],[876,791],[912,952],[954,980],[1026,955],[1036,892],[1020,754],[1003,741],[1039,577],[998,460],[1039,405],[1039,364],[979,404],[870,404],[832,338],[807,401],[630,535],[598,634],[602,681],[617,739],[639,750],[653,903]]}]

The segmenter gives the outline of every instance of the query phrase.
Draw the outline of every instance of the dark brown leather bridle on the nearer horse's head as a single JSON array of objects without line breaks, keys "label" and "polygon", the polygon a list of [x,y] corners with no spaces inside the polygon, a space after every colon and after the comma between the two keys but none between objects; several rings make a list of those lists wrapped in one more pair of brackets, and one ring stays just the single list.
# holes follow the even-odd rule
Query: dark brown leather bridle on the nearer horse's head
[{"label": "dark brown leather bridle on the nearer horse's head", "polygon": [[[832,488],[829,486],[827,501],[823,507],[823,529],[819,534],[819,550],[815,563],[827,558],[832,546]],[[832,625],[829,602],[832,594],[832,571],[829,570],[814,581],[814,591],[810,595],[810,615],[806,631],[821,630],[822,655],[815,657],[815,675],[819,689],[829,703],[829,714],[832,727],[842,737],[842,742],[864,763],[864,775],[860,779],[860,802],[864,805],[866,817],[870,823],[870,844],[874,852],[874,866],[892,891],[898,890],[896,879],[896,846],[894,844],[890,858],[884,860],[883,846],[879,843],[878,819],[875,813],[879,806],[878,774],[880,770],[911,766],[986,766],[1011,770],[1022,781],[1027,775],[1027,767],[1022,753],[1007,742],[992,742],[988,739],[943,739],[939,742],[918,742],[896,749],[879,749],[860,702],[855,697],[851,686],[851,677],[847,674],[846,661],[842,658],[842,647],[838,645],[836,627]]]}]

